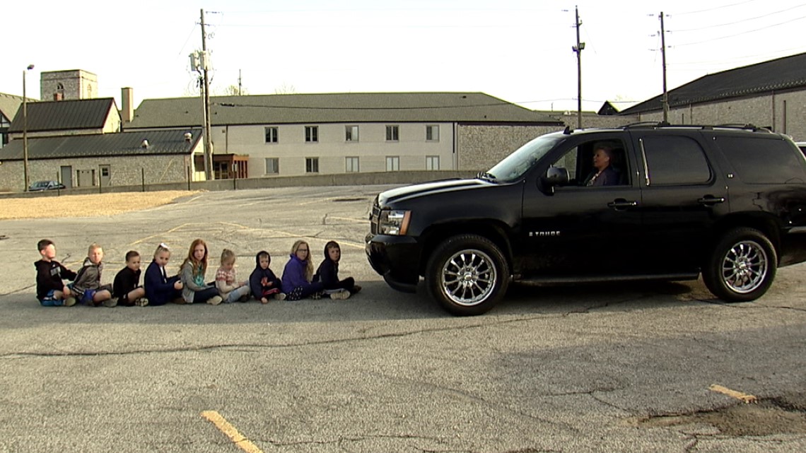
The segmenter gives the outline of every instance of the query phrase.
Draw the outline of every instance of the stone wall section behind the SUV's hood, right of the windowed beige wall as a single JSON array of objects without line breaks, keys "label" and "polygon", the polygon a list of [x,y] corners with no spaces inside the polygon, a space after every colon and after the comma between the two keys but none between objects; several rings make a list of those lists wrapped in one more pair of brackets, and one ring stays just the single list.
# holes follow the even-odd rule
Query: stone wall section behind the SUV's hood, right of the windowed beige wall
[{"label": "stone wall section behind the SUV's hood, right of the windowed beige wall", "polygon": [[458,170],[488,170],[524,143],[543,134],[562,131],[554,126],[469,126],[457,131]]}]

